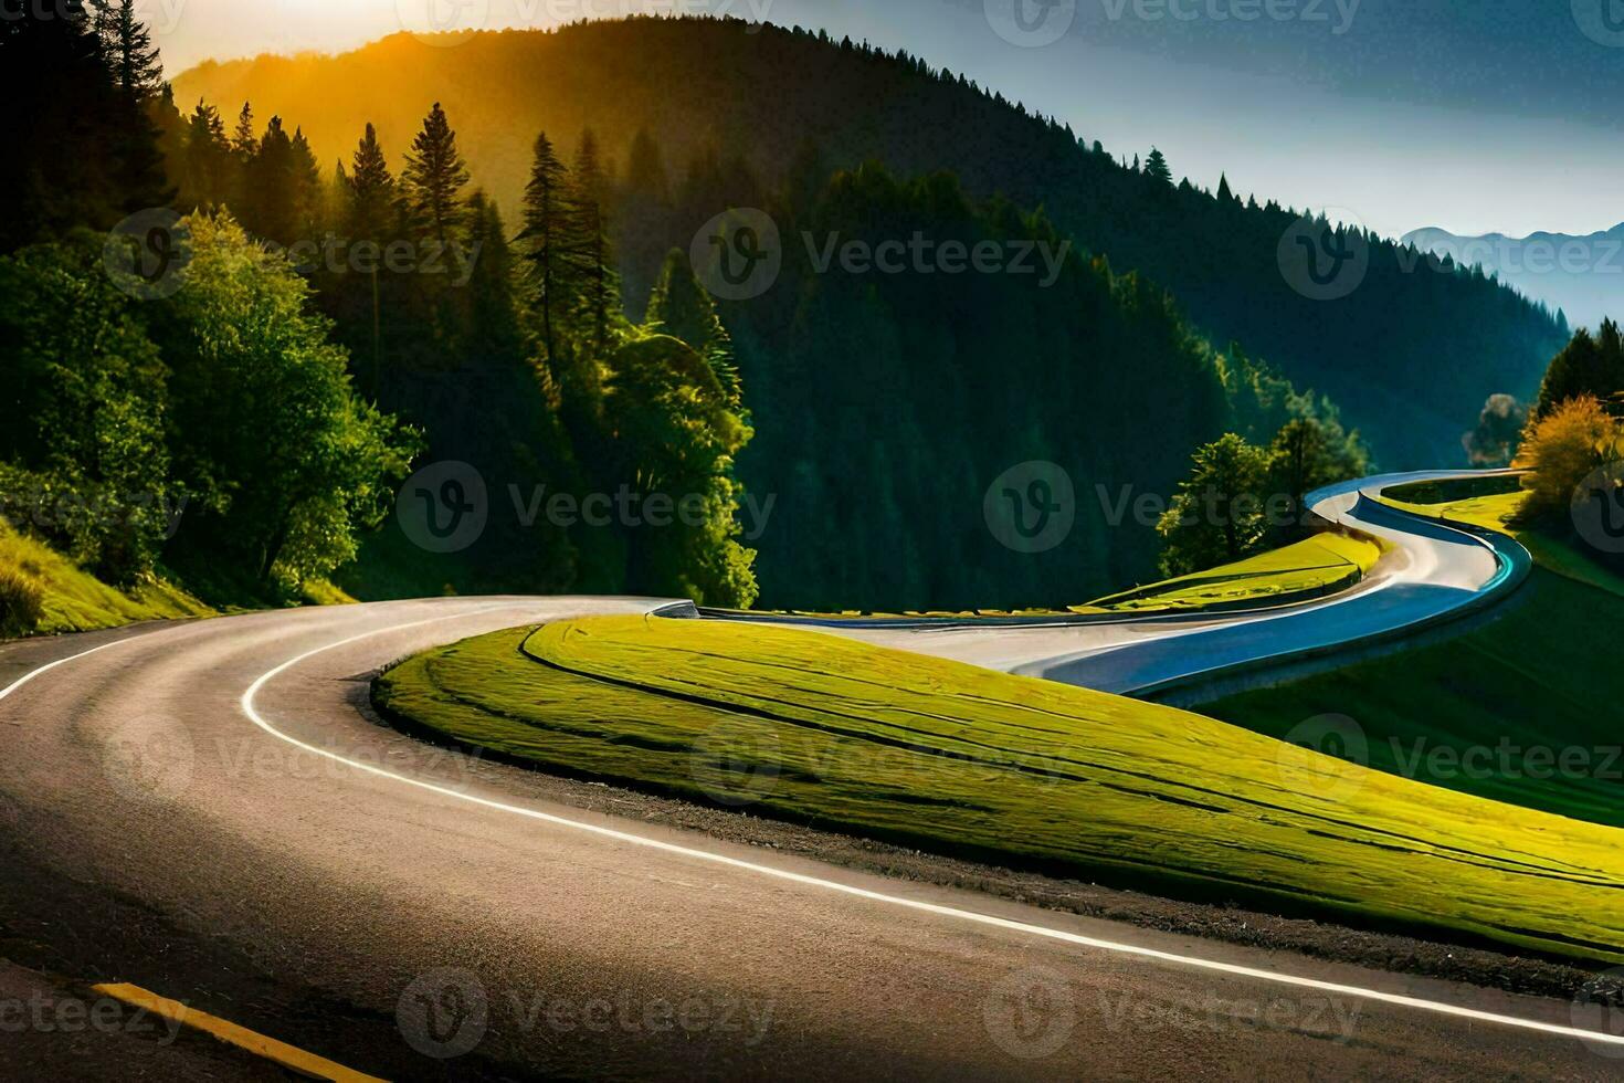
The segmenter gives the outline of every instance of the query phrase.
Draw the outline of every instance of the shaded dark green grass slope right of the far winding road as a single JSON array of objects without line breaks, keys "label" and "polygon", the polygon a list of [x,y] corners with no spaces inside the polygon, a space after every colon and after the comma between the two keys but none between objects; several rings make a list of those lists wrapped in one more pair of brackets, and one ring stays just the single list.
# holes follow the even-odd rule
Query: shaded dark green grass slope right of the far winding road
[{"label": "shaded dark green grass slope right of the far winding road", "polygon": [[1389,502],[1502,529],[1533,554],[1533,575],[1492,622],[1197,710],[1270,736],[1345,714],[1364,731],[1374,768],[1624,826],[1624,711],[1614,680],[1624,581],[1574,546],[1514,526],[1520,494],[1427,495],[1439,502],[1398,502],[1392,492]]}]

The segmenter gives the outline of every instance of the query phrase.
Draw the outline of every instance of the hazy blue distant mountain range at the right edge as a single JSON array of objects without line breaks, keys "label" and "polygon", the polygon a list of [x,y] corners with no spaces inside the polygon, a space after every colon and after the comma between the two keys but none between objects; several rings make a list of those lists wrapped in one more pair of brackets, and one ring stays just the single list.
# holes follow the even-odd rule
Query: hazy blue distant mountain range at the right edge
[{"label": "hazy blue distant mountain range at the right edge", "polygon": [[1624,222],[1606,232],[1484,234],[1462,237],[1447,229],[1416,229],[1405,244],[1463,266],[1481,266],[1525,297],[1561,309],[1574,326],[1624,320]]}]

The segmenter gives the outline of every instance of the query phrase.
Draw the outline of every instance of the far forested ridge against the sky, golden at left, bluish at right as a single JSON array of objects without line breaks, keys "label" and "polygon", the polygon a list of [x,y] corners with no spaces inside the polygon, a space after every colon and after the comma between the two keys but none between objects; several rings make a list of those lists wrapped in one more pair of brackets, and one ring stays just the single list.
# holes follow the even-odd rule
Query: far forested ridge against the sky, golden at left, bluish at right
[{"label": "far forested ridge against the sky, golden at left, bluish at right", "polygon": [[[1567,338],[1554,315],[1483,274],[1364,234],[1325,242],[1369,245],[1358,287],[1304,296],[1280,266],[1293,211],[1174,185],[1168,170],[1135,167],[1142,148],[1108,153],[921,58],[773,26],[638,18],[481,34],[456,47],[396,36],[341,57],[208,63],[182,75],[175,93],[182,104],[252,99],[261,114],[299,117],[323,161],[367,120],[400,146],[440,99],[505,208],[525,183],[525,133],[536,128],[573,145],[591,127],[627,172],[646,132],[679,190],[689,162],[706,157],[747,166],[768,188],[788,183],[812,151],[828,169],[869,159],[896,175],[947,169],[974,198],[1043,206],[1117,271],[1169,287],[1213,341],[1241,341],[1298,386],[1335,398],[1390,468],[1458,461],[1484,398],[1528,398]],[[663,252],[633,248],[622,271],[635,313]]]}]

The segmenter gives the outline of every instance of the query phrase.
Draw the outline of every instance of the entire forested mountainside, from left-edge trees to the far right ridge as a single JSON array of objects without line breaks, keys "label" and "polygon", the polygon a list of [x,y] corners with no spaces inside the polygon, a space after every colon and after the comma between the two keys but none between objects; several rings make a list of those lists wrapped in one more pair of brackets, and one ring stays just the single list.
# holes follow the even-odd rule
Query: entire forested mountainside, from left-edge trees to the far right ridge
[{"label": "entire forested mountainside, from left-edge trees to the far right ridge", "polygon": [[[0,32],[24,115],[101,110],[23,133],[37,164],[0,244],[16,296],[0,344],[19,362],[0,495],[188,502],[184,521],[18,523],[120,581],[167,567],[222,601],[333,576],[361,598],[1077,602],[1155,575],[1197,448],[1364,461],[1333,398],[1252,343],[1215,347],[1229,339],[1129,265],[1194,281],[1190,304],[1234,304],[1267,341],[1237,299],[1296,297],[1278,320],[1317,341],[1288,359],[1346,388],[1390,447],[1406,419],[1444,417],[1439,388],[1473,388],[1470,421],[1505,386],[1501,339],[1554,334],[1486,279],[1384,276],[1400,253],[1380,244],[1366,284],[1311,302],[1259,265],[1288,213],[806,34],[635,19],[390,39],[208,65],[172,93],[132,0],[99,11]],[[209,80],[221,106],[195,97]],[[62,166],[104,151],[106,172]],[[1228,257],[1169,235],[1181,216]],[[771,273],[732,289],[734,257],[755,266],[763,239]],[[1358,360],[1372,341],[1392,352]],[[1458,367],[1390,372],[1419,365],[1415,341]],[[1434,425],[1453,455],[1465,424]],[[987,502],[1038,461],[1075,489],[1075,523],[1026,552]],[[654,523],[640,508],[661,500]],[[455,539],[464,513],[479,526]]]}]

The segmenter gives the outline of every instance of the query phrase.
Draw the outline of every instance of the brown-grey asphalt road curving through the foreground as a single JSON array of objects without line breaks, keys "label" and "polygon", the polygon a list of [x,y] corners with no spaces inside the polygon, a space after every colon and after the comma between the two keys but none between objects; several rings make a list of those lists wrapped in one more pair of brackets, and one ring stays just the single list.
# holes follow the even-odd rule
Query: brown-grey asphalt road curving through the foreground
[{"label": "brown-grey asphalt road curving through the foreground", "polygon": [[1566,1002],[625,820],[604,810],[614,791],[562,804],[541,776],[364,711],[369,675],[403,654],[650,604],[385,602],[0,648],[6,922],[39,929],[58,971],[403,1078],[1618,1065],[1603,1054],[1624,1046],[1575,1034]]}]

